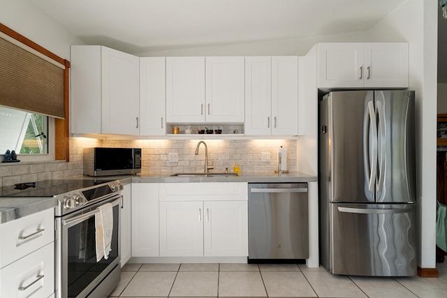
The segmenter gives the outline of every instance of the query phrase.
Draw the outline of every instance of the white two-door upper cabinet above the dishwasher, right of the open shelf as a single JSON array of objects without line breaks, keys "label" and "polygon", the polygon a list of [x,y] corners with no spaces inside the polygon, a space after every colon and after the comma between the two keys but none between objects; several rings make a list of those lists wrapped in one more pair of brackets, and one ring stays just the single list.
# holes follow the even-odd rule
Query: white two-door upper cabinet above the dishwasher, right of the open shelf
[{"label": "white two-door upper cabinet above the dishwasher, right of the open shelf", "polygon": [[298,57],[245,58],[245,134],[298,134]]}]

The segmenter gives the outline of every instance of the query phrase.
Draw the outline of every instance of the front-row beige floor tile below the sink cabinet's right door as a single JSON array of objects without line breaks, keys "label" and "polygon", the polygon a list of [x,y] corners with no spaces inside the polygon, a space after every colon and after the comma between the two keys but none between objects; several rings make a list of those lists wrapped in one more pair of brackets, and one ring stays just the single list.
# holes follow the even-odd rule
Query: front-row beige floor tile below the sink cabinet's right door
[{"label": "front-row beige floor tile below the sink cabinet's right door", "polygon": [[219,297],[267,297],[259,271],[221,271]]}]

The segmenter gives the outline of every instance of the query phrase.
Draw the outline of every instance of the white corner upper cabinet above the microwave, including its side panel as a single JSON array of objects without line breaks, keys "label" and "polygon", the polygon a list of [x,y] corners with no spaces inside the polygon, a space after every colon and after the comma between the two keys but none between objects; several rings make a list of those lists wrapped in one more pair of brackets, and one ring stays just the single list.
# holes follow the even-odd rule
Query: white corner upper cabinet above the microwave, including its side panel
[{"label": "white corner upper cabinet above the microwave, including its side panel", "polygon": [[139,59],[96,45],[71,47],[71,133],[138,135]]}]

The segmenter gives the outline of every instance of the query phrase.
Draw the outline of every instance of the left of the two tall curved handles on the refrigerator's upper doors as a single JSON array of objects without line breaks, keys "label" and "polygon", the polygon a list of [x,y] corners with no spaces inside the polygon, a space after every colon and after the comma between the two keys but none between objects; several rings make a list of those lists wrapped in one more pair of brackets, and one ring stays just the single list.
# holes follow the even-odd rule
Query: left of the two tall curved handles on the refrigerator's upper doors
[{"label": "left of the two tall curved handles on the refrigerator's upper doors", "polygon": [[[372,100],[368,102],[367,111],[365,112],[365,121],[369,119],[369,127],[372,131],[372,163],[369,163],[369,127],[368,123],[364,125],[363,131],[363,163],[365,163],[365,170],[367,171],[368,190],[373,192],[376,182],[377,174],[377,126],[376,126],[376,112],[374,111],[374,103]],[[368,173],[369,171],[369,173]]]}]

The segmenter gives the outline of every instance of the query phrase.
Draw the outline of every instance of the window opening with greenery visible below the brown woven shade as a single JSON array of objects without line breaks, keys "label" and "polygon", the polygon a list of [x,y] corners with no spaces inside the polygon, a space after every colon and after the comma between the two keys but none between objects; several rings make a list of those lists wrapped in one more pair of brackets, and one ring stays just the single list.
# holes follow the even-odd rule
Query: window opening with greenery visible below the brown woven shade
[{"label": "window opening with greenery visible below the brown woven shade", "polygon": [[36,156],[26,160],[52,158],[53,126],[51,117],[0,106],[0,154],[14,150],[20,160],[24,155]]}]

